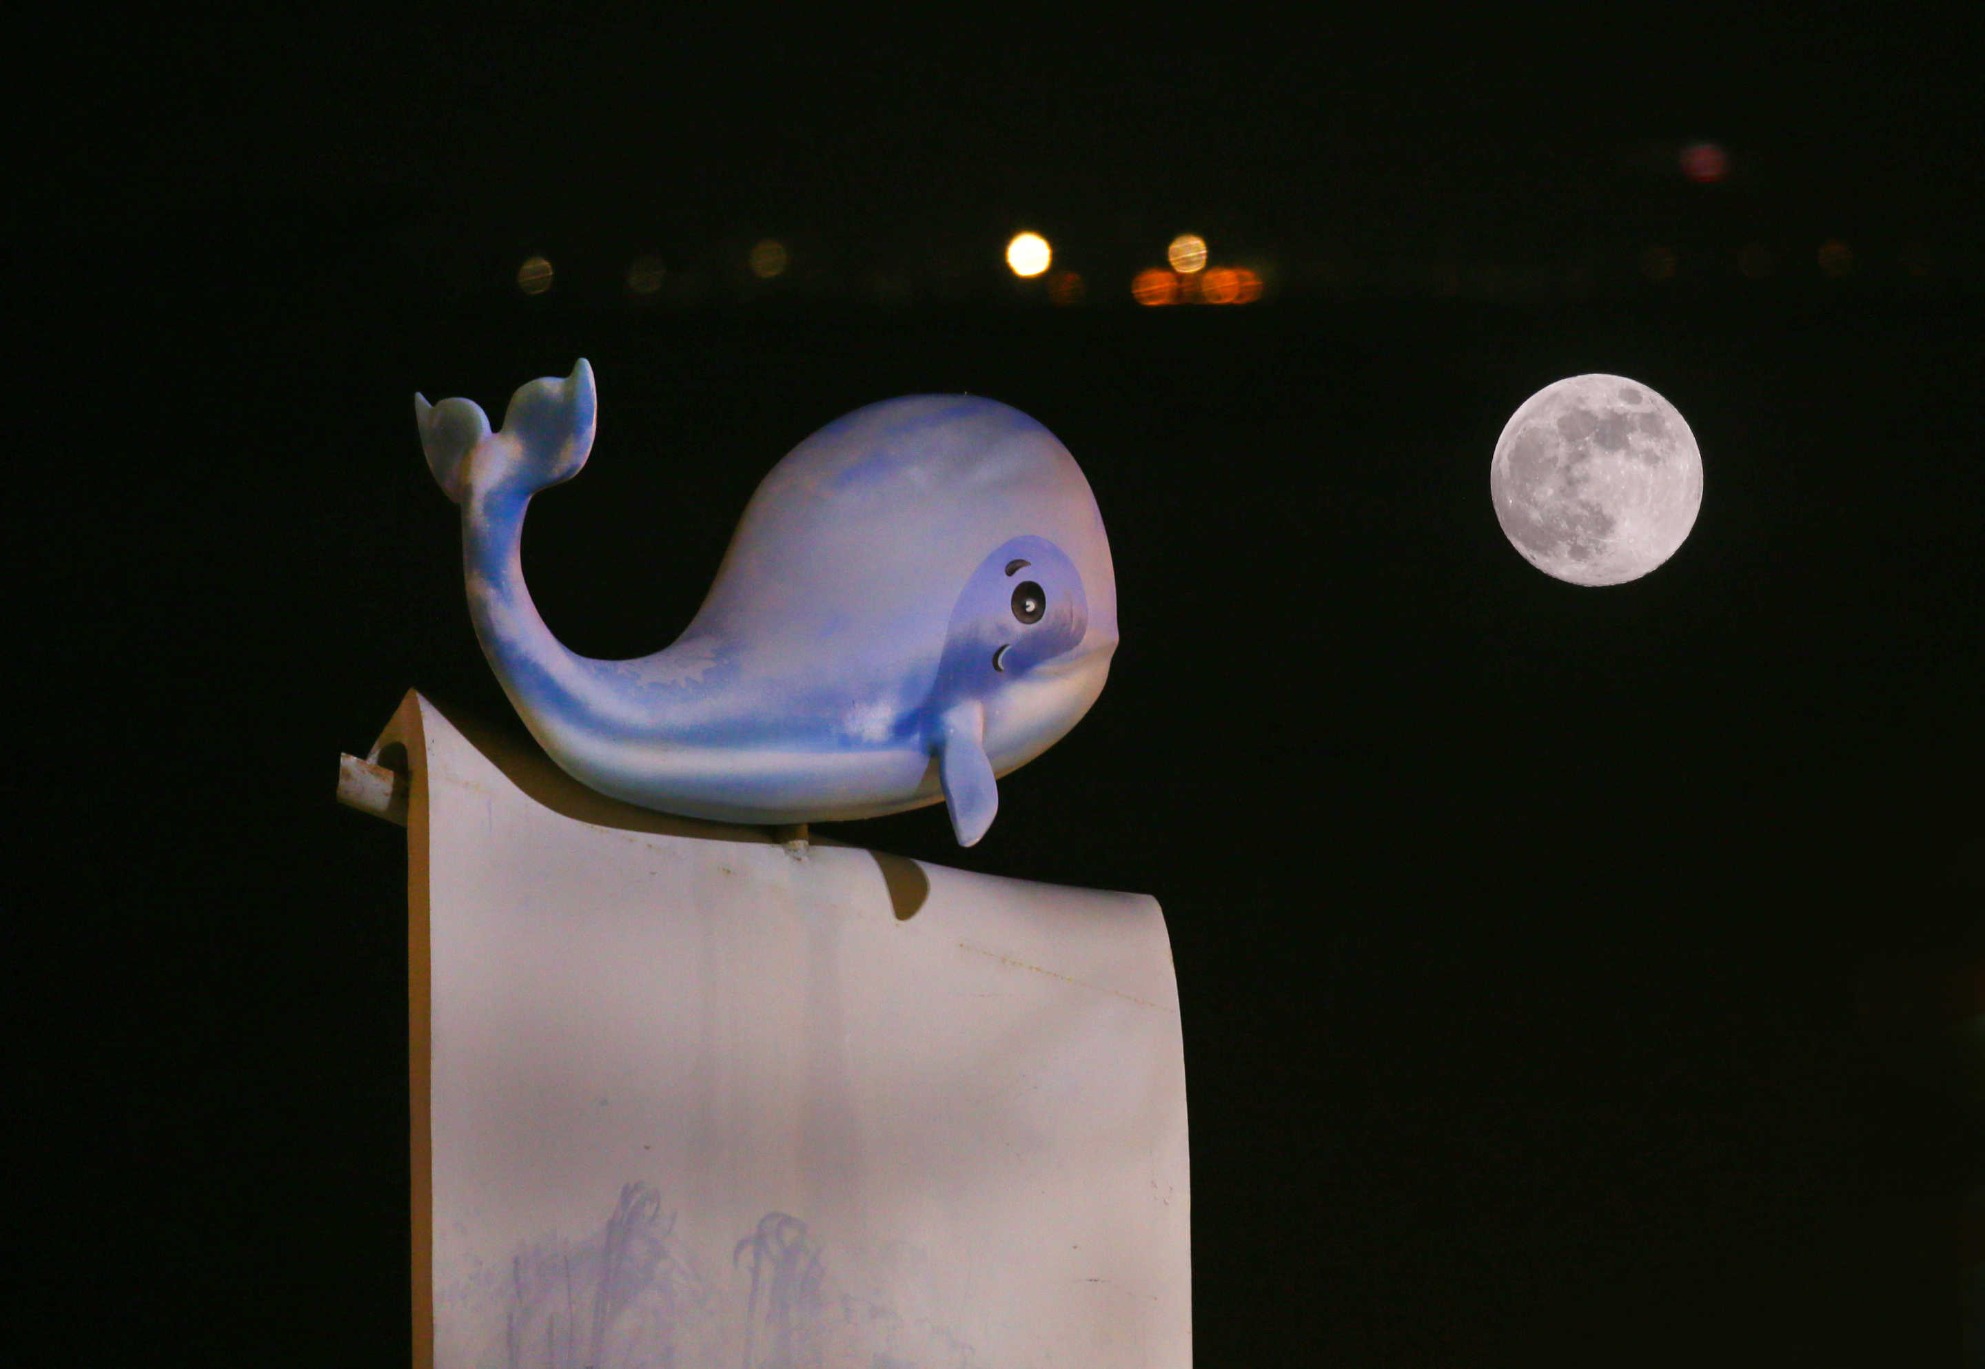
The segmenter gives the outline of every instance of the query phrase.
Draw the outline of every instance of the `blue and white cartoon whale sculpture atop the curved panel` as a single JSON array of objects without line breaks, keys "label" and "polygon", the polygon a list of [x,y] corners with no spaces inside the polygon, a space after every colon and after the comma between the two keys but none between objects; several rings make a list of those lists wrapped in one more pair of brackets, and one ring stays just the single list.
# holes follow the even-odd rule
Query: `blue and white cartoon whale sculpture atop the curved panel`
[{"label": "blue and white cartoon whale sculpture atop the curved panel", "polygon": [[963,845],[996,778],[1060,740],[1118,643],[1110,542],[1074,456],[991,399],[858,409],[758,484],[709,597],[633,661],[566,651],[520,560],[524,508],[594,444],[582,359],[510,399],[415,397],[427,464],[463,506],[468,607],[544,750],[613,798],[691,817],[875,817],[943,796]]}]

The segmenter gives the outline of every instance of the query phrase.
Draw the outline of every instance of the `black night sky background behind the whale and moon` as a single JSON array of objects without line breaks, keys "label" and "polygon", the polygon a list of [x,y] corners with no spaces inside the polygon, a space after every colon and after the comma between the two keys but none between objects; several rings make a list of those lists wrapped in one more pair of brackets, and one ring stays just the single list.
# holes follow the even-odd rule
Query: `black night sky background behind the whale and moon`
[{"label": "black night sky background behind the whale and moon", "polygon": [[[1957,1359],[1977,34],[1388,20],[77,20],[6,210],[8,1337],[403,1355],[403,833],[335,758],[409,686],[514,726],[409,397],[586,355],[526,569],[588,655],[673,639],[848,409],[973,391],[1076,452],[1102,700],[975,849],[939,808],[830,831],[1163,903],[1199,1363]],[[1004,272],[1016,228],[1080,306]],[[1181,230],[1266,296],[1135,306]],[[1530,569],[1485,478],[1582,371],[1707,472],[1610,589]]]}]

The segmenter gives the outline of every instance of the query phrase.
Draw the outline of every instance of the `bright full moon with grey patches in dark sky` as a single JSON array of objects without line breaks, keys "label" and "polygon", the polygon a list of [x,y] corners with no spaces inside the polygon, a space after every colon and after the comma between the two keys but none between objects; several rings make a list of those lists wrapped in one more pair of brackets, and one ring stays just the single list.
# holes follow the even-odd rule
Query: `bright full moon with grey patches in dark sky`
[{"label": "bright full moon with grey patches in dark sky", "polygon": [[1572,585],[1620,585],[1665,561],[1703,506],[1703,456],[1640,381],[1574,375],[1522,401],[1489,462],[1511,546]]}]

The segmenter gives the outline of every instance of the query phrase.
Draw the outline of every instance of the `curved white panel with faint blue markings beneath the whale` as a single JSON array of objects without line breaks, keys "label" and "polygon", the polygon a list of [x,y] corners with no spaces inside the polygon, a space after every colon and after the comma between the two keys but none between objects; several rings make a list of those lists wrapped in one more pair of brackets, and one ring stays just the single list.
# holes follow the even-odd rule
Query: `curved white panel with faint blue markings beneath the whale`
[{"label": "curved white panel with faint blue markings beneath the whale", "polygon": [[417,694],[393,744],[435,1365],[1191,1363],[1155,901],[796,859],[601,800]]}]

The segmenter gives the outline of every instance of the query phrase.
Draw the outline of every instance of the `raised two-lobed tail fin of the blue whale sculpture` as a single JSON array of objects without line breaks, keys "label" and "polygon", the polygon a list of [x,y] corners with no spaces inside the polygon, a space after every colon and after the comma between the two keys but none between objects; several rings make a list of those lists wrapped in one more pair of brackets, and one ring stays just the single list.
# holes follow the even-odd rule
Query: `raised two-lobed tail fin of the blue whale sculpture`
[{"label": "raised two-lobed tail fin of the blue whale sculpture", "polygon": [[580,357],[566,379],[544,377],[510,397],[502,431],[468,399],[427,403],[413,397],[427,468],[451,500],[463,504],[476,486],[502,484],[536,494],[580,474],[594,450],[599,399],[594,369]]}]

